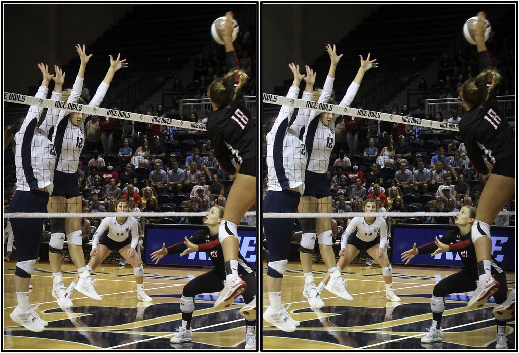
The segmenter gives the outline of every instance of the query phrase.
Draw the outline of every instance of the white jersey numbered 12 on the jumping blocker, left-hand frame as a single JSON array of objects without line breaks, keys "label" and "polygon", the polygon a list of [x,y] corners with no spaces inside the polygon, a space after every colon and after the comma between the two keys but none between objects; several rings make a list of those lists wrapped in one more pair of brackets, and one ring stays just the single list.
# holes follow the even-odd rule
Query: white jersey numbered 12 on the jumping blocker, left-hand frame
[{"label": "white jersey numbered 12 on the jumping blocker, left-hand frame", "polygon": [[[80,82],[82,83],[83,80],[81,79]],[[101,85],[99,85],[97,92],[95,92],[95,96],[88,105],[95,107],[99,106],[106,95],[108,87],[110,87],[110,85],[102,82]],[[76,83],[74,83],[74,89],[75,88]],[[54,97],[54,94],[52,97]],[[69,101],[71,101],[71,97],[75,97],[75,95],[73,96],[71,93]],[[59,98],[61,98],[61,94],[59,95]],[[72,99],[72,103],[76,102],[77,98]],[[58,122],[54,125],[52,138],[57,150],[56,170],[67,174],[74,174],[76,173],[77,165],[79,164],[79,155],[81,154],[81,151],[83,151],[83,146],[85,144],[84,124],[74,126],[68,116],[65,116],[66,113],[66,111],[60,111],[58,113]]]}]

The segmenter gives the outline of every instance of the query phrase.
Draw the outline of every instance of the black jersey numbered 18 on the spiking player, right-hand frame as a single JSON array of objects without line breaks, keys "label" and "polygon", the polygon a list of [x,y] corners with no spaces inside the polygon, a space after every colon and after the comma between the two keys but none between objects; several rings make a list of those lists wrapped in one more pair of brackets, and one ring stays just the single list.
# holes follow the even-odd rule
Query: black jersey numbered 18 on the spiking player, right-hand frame
[{"label": "black jersey numbered 18 on the spiking player, right-hand frame", "polygon": [[[480,67],[488,67],[486,51],[479,53]],[[499,108],[495,90],[484,105],[473,107],[463,114],[458,125],[467,155],[477,171],[488,173],[483,157],[494,165],[504,158],[515,159],[515,133]]]}]

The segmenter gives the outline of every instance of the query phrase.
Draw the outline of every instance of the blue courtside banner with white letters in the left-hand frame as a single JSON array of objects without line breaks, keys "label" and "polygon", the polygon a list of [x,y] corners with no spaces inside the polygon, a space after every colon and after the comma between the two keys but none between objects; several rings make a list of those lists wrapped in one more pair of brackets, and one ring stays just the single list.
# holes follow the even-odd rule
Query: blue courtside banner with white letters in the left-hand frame
[{"label": "blue courtside banner with white letters in the left-hand frame", "polygon": [[[184,237],[189,239],[198,230],[203,229],[204,225],[197,224],[150,224],[147,226],[146,237],[144,238],[144,250],[146,257],[144,262],[147,265],[153,265],[149,256],[153,251],[162,248],[162,243],[166,243],[166,247],[176,243],[184,242]],[[256,268],[256,227],[239,226],[238,237],[240,238],[240,252],[247,260],[252,268]],[[162,265],[181,265],[181,266],[208,266],[212,267],[213,263],[206,252],[192,252],[184,256],[180,254],[171,254],[162,257],[159,264]]]}]

